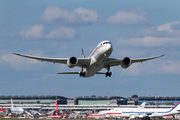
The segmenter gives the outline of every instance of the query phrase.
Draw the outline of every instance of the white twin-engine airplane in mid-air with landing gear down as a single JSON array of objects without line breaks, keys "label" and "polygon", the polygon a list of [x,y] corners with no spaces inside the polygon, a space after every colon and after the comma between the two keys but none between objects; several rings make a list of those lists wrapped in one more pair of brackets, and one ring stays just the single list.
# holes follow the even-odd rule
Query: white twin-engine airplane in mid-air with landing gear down
[{"label": "white twin-engine airplane in mid-air with landing gear down", "polygon": [[[131,64],[137,62],[143,62],[147,60],[152,60],[155,58],[162,57],[164,55],[143,58],[143,59],[130,59],[129,57],[125,57],[123,59],[109,58],[113,51],[113,45],[110,41],[102,41],[97,47],[93,50],[93,52],[89,55],[88,58],[85,58],[84,51],[81,49],[82,58],[76,58],[74,56],[70,58],[47,58],[47,57],[38,57],[38,56],[30,56],[23,55],[19,53],[13,53],[14,55],[40,60],[41,62],[52,62],[52,63],[61,63],[66,64],[69,68],[73,67],[81,67],[81,72],[62,72],[57,74],[79,74],[80,77],[92,77],[95,74],[105,74],[105,76],[111,77],[112,72],[110,71],[110,67],[120,65],[122,68],[126,69]],[[99,72],[102,68],[106,68],[107,72]]]}]

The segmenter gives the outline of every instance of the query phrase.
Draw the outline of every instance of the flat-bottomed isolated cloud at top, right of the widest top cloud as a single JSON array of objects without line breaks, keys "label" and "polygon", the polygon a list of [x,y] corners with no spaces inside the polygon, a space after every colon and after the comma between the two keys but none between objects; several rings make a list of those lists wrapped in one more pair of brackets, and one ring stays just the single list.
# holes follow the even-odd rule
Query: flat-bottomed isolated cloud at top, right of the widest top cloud
[{"label": "flat-bottomed isolated cloud at top, right of the widest top cloud", "polygon": [[136,24],[149,24],[151,23],[150,17],[143,12],[140,8],[134,11],[119,11],[114,15],[108,17],[106,22],[109,24],[120,25],[136,25]]}]

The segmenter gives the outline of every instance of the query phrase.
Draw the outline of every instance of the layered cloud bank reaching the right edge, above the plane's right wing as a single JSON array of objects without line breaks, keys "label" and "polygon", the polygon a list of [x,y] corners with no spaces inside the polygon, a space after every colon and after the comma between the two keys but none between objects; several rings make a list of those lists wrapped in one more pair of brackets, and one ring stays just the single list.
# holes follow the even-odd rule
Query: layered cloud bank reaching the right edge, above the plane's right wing
[{"label": "layered cloud bank reaching the right edge, above the plane's right wing", "polygon": [[[117,38],[121,46],[180,46],[180,21],[165,23],[141,30],[133,38]],[[123,43],[123,44],[122,44]]]}]

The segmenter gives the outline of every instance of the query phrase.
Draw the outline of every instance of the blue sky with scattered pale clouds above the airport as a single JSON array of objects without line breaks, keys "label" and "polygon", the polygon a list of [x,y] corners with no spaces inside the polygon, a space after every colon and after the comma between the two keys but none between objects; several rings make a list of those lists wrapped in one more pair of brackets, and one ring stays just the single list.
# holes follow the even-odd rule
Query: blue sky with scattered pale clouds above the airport
[{"label": "blue sky with scattered pale clouds above the airport", "polygon": [[[180,1],[174,0],[1,0],[0,95],[179,96]],[[81,71],[40,62],[33,56],[88,57],[103,40],[111,58],[164,57],[129,68],[111,67],[112,76],[57,75]],[[106,69],[102,69],[106,72]]]}]

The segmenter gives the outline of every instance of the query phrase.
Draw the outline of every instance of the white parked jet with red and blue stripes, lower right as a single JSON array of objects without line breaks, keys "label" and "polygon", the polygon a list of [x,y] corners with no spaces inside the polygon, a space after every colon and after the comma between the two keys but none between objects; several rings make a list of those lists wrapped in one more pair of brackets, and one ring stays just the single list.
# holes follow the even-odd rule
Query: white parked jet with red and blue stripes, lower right
[{"label": "white parked jet with red and blue stripes, lower right", "polygon": [[129,117],[129,119],[163,117],[180,113],[180,102],[173,108],[113,108],[106,113],[107,116]]}]

